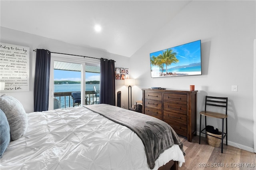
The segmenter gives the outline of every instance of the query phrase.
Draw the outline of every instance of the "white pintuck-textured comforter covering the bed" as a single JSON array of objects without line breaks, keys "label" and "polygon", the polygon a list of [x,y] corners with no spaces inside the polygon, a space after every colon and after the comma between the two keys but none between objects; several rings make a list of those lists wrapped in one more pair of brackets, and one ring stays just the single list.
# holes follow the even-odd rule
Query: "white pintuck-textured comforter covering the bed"
[{"label": "white pintuck-textured comforter covering the bed", "polygon": [[[84,107],[29,113],[28,122],[26,133],[4,152],[1,170],[150,169],[132,130]],[[162,153],[154,169],[170,160],[184,162],[178,145]]]}]

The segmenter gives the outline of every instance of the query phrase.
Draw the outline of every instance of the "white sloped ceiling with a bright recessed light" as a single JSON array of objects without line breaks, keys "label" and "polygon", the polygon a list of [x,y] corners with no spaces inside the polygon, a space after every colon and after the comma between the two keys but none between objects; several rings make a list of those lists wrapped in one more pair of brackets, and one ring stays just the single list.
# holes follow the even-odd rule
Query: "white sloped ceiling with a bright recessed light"
[{"label": "white sloped ceiling with a bright recessed light", "polygon": [[1,26],[130,57],[189,2],[1,0]]}]

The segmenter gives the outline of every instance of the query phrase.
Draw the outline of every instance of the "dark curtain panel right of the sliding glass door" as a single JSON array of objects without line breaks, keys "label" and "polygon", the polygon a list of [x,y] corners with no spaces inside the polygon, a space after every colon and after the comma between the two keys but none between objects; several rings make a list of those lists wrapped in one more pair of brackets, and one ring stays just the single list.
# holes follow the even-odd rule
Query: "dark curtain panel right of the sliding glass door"
[{"label": "dark curtain panel right of the sliding glass door", "polygon": [[100,103],[116,105],[115,61],[100,59]]}]

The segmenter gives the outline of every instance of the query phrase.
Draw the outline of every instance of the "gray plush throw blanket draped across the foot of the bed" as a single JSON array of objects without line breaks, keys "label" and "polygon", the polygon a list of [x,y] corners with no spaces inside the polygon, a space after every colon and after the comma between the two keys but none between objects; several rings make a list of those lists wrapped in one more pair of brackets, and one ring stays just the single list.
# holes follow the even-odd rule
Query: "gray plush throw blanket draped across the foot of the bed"
[{"label": "gray plush throw blanket draped across the foot of the bed", "polygon": [[180,146],[185,156],[183,144],[180,142],[176,132],[160,119],[106,104],[87,105],[84,107],[134,131],[145,146],[150,169],[154,168],[155,161],[159,155],[174,144]]}]

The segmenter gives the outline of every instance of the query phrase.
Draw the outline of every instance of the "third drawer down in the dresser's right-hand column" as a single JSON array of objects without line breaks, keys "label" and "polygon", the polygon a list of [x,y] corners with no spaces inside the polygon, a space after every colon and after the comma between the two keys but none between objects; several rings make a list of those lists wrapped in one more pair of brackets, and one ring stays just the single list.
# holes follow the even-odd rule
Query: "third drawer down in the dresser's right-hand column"
[{"label": "third drawer down in the dresser's right-hand column", "polygon": [[164,111],[164,121],[181,123],[183,125],[187,125],[187,115]]}]

